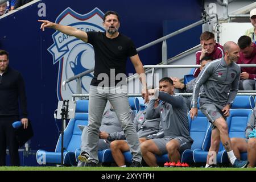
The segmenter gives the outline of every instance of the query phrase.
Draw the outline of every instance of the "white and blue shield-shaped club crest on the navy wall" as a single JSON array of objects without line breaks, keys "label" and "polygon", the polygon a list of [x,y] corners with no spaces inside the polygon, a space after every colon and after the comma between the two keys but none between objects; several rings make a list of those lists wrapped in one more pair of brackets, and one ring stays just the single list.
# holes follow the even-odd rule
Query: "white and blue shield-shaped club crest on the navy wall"
[{"label": "white and blue shield-shaped club crest on the navy wall", "polygon": [[[64,10],[56,19],[56,23],[72,26],[81,31],[105,31],[102,25],[104,13],[97,7],[87,14],[81,15],[71,8]],[[53,56],[53,64],[59,63],[57,80],[57,97],[59,100],[71,99],[76,93],[76,80],[61,88],[62,82],[88,69],[94,68],[94,49],[92,45],[82,42],[73,36],[56,31],[52,35],[54,44],[48,48]],[[93,73],[81,78],[82,93],[89,93]]]}]

